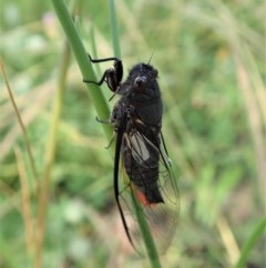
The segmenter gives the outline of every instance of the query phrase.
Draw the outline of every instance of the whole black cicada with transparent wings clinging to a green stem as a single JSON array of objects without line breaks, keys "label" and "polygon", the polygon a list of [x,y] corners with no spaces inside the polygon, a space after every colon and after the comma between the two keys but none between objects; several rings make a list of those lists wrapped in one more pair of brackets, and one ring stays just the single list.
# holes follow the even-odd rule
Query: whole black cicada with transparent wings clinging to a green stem
[{"label": "whole black cicada with transparent wings clinging to a green stem", "polygon": [[90,57],[90,60],[93,63],[114,61],[113,68],[108,69],[99,82],[84,82],[100,86],[105,81],[115,95],[121,96],[110,121],[116,135],[114,193],[126,235],[136,251],[142,251],[142,235],[136,220],[139,209],[162,252],[176,228],[178,195],[161,132],[163,103],[157,70],[150,63],[137,63],[122,82],[120,59]]}]

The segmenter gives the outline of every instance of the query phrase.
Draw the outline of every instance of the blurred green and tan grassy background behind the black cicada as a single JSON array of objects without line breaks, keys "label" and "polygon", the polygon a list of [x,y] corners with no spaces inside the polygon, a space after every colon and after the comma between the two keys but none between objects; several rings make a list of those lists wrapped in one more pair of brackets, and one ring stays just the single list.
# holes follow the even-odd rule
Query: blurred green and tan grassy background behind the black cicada
[{"label": "blurred green and tan grassy background behind the black cicada", "polygon": [[[93,50],[93,27],[98,57],[113,56],[109,2],[80,7],[75,21],[86,50]],[[117,0],[115,7],[125,76],[151,56],[160,75],[163,133],[181,202],[163,267],[235,267],[265,217],[265,2]],[[55,151],[49,151],[60,62],[68,57],[51,2],[1,0],[0,13],[1,62],[39,178],[1,76],[0,267],[150,267],[121,226],[109,140],[73,57],[65,64]],[[99,73],[110,64],[101,64]],[[103,93],[111,97],[108,89]],[[48,195],[47,216],[40,192]],[[43,226],[38,251],[34,239]],[[265,261],[264,231],[245,267],[262,268]]]}]

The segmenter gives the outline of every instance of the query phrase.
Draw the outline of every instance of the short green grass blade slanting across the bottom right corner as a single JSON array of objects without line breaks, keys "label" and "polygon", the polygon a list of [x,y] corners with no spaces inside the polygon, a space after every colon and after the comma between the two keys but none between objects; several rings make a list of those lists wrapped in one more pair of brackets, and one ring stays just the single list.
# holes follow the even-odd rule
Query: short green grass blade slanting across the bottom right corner
[{"label": "short green grass blade slanting across the bottom right corner", "polygon": [[255,242],[257,241],[257,239],[259,237],[265,236],[265,234],[263,235],[263,232],[265,231],[265,228],[266,228],[266,218],[263,218],[256,225],[256,227],[254,228],[254,230],[253,230],[252,235],[249,236],[248,240],[244,245],[242,254],[241,254],[241,257],[239,257],[235,268],[243,268],[243,267],[245,267],[247,258],[249,256],[249,252],[254,248]]}]

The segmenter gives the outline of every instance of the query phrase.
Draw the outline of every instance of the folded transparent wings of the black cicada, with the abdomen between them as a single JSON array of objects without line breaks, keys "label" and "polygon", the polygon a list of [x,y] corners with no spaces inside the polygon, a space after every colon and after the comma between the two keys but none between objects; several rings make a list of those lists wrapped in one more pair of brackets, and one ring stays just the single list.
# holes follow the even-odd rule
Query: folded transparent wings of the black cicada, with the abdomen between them
[{"label": "folded transparent wings of the black cicada, with the abdomen between them", "polygon": [[129,239],[143,254],[137,209],[163,252],[173,238],[178,214],[178,191],[163,137],[160,133],[149,139],[137,131],[124,132],[120,151],[116,200]]}]

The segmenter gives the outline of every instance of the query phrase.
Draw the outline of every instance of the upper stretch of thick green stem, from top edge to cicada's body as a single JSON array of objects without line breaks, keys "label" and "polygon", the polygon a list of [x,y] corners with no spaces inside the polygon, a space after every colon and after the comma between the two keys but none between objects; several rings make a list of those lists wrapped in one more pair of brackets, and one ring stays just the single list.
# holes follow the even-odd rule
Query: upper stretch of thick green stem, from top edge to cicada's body
[{"label": "upper stretch of thick green stem, from top edge to cicada's body", "polygon": [[[58,14],[58,18],[61,22],[61,26],[64,30],[64,33],[70,42],[70,47],[74,53],[76,62],[79,64],[82,77],[85,80],[96,81],[92,64],[88,59],[88,53],[81,42],[81,39],[78,34],[78,31],[74,27],[72,18],[63,2],[63,0],[52,0],[53,8]],[[96,109],[96,113],[99,118],[109,118],[110,109],[106,100],[101,90],[96,85],[90,83],[88,86],[90,98]],[[103,130],[108,140],[112,138],[113,129],[109,123],[102,123]]]}]

